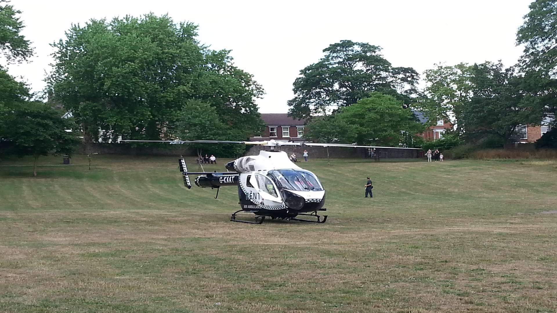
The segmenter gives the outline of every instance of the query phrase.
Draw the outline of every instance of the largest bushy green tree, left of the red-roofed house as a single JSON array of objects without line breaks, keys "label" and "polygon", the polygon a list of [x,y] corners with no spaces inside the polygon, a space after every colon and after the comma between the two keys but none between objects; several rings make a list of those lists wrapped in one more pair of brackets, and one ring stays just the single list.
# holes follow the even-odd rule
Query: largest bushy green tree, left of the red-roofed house
[{"label": "largest bushy green tree, left of the red-roofed house", "polygon": [[74,25],[52,45],[49,86],[88,141],[99,128],[127,139],[173,138],[179,111],[193,99],[213,107],[221,123],[241,129],[237,139],[258,133],[262,121],[254,101],[261,86],[233,65],[229,51],[210,50],[196,36],[196,25],[167,15]]}]

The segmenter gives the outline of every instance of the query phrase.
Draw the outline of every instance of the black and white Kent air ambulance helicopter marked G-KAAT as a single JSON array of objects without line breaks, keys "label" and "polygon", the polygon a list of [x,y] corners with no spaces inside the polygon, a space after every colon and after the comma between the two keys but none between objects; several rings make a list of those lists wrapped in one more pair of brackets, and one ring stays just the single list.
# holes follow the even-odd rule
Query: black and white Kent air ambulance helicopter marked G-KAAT
[{"label": "black and white Kent air ambulance helicopter marked G-KAAT", "polygon": [[[227,172],[188,172],[183,158],[178,159],[178,166],[186,188],[192,188],[189,175],[197,175],[194,183],[201,188],[218,190],[221,187],[237,186],[240,210],[232,213],[230,221],[261,224],[266,217],[286,221],[325,223],[327,215],[318,212],[327,211],[325,205],[325,188],[319,178],[309,170],[293,163],[280,146],[343,146],[351,148],[395,148],[385,146],[363,146],[351,144],[293,143],[286,141],[223,141],[223,140],[121,140],[124,142],[157,142],[170,144],[214,143],[214,144],[253,144],[270,146],[270,150],[261,150],[258,155],[242,156],[224,165]],[[255,222],[237,219],[240,212],[254,213]],[[297,218],[299,216],[306,218]],[[315,219],[307,219],[308,217]]]}]

